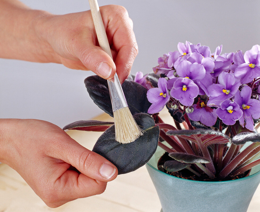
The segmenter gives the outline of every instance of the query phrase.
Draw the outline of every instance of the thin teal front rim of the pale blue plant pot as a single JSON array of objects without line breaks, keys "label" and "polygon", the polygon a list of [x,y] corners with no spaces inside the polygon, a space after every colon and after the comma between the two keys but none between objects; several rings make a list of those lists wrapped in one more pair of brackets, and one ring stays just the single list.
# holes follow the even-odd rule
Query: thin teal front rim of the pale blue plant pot
[{"label": "thin teal front rim of the pale blue plant pot", "polygon": [[227,180],[227,181],[197,181],[197,180],[187,180],[187,179],[183,179],[183,178],[180,178],[180,177],[175,177],[175,176],[172,176],[172,175],[169,175],[169,174],[166,174],[162,171],[160,171],[159,169],[156,169],[153,165],[151,165],[149,163],[149,161],[146,163],[146,165],[148,165],[149,167],[151,167],[152,169],[154,169],[155,171],[158,171],[160,172],[161,174],[165,174],[169,177],[173,177],[173,178],[178,178],[179,180],[183,180],[183,181],[188,181],[188,182],[194,182],[194,183],[204,183],[204,184],[212,184],[212,183],[219,183],[219,184],[223,184],[223,183],[230,183],[230,182],[239,182],[239,181],[243,181],[243,180],[247,180],[247,179],[250,179],[258,174],[260,174],[260,169],[259,171],[257,171],[256,173],[252,174],[252,175],[249,175],[247,177],[242,177],[242,178],[239,178],[239,179],[236,179],[236,180]]}]

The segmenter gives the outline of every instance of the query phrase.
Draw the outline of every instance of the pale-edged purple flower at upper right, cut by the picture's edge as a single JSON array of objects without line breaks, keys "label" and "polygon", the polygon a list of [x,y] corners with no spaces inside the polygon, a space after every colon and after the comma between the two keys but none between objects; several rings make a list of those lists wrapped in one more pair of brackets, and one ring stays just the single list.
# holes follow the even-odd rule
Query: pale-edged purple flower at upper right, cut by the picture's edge
[{"label": "pale-edged purple flower at upper right, cut by the picture's edge", "polygon": [[241,83],[249,83],[254,78],[260,76],[260,52],[259,45],[255,45],[251,50],[244,54],[245,63],[239,65],[235,71],[235,77],[239,78]]}]

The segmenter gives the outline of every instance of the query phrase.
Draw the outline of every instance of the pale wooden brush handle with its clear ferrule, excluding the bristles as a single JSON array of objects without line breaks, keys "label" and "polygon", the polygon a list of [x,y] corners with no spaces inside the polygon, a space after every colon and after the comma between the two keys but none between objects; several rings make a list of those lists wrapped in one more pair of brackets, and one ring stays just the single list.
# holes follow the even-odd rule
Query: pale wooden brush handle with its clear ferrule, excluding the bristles
[{"label": "pale wooden brush handle with its clear ferrule, excluding the bristles", "polygon": [[[91,15],[93,18],[99,46],[113,59],[107,39],[106,30],[96,0],[89,0]],[[128,107],[117,74],[107,81],[113,112]]]}]

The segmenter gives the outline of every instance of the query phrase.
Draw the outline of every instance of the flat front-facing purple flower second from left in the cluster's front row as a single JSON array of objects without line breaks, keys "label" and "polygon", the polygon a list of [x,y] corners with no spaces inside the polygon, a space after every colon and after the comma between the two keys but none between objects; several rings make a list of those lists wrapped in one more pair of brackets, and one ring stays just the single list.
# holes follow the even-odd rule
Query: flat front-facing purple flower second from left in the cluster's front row
[{"label": "flat front-facing purple flower second from left in the cluster's front row", "polygon": [[198,86],[188,78],[176,79],[171,89],[171,96],[185,106],[191,106],[198,93]]}]

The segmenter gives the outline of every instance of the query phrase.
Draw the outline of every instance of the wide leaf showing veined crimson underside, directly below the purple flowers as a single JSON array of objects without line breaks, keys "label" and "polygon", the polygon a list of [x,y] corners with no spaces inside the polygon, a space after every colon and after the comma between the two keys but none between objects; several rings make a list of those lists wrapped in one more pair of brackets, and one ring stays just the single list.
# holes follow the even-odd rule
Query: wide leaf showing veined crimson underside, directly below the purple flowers
[{"label": "wide leaf showing veined crimson underside, directly below the purple flowers", "polygon": [[198,144],[200,140],[206,147],[211,144],[225,144],[230,142],[230,138],[224,133],[215,130],[170,130],[167,135],[176,135]]}]

